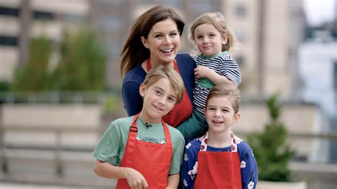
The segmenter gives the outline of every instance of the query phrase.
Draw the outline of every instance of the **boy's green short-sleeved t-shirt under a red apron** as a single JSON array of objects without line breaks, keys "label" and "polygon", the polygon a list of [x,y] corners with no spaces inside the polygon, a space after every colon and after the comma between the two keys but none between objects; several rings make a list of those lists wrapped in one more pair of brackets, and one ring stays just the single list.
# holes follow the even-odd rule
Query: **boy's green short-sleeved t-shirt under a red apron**
[{"label": "boy's green short-sleeved t-shirt under a red apron", "polygon": [[[109,128],[105,131],[100,142],[97,144],[92,156],[100,161],[107,161],[114,166],[119,166],[124,156],[125,146],[129,137],[129,127],[132,124],[133,117],[125,117],[112,121]],[[166,124],[167,125],[167,124]],[[176,174],[180,171],[183,161],[183,148],[185,140],[183,135],[177,129],[167,125],[172,140],[172,159],[169,174]],[[151,124],[146,127],[140,118],[137,119],[137,139],[154,143],[165,143],[163,125]],[[151,154],[149,154],[151,156]]]}]

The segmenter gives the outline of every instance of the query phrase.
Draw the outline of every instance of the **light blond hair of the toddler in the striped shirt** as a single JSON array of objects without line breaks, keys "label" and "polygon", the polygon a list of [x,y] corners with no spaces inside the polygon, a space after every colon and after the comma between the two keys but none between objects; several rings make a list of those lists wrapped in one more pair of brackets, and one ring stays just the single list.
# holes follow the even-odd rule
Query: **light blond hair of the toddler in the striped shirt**
[{"label": "light blond hair of the toddler in the striped shirt", "polygon": [[220,12],[203,13],[196,18],[196,21],[193,22],[188,35],[188,38],[192,43],[196,43],[194,31],[196,31],[198,26],[205,23],[213,25],[221,33],[222,37],[227,37],[227,43],[223,44],[223,48],[221,49],[222,51],[230,50],[230,48],[237,43],[235,33],[232,31],[232,28],[228,26],[225,16],[223,16]]}]

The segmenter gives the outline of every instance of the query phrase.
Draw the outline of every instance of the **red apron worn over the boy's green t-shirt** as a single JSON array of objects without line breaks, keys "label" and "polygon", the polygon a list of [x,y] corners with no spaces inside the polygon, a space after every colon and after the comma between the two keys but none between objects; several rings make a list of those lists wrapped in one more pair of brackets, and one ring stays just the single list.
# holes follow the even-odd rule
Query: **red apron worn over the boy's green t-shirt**
[{"label": "red apron worn over the boy's green t-shirt", "polygon": [[[149,188],[166,188],[172,158],[172,142],[169,129],[162,121],[166,144],[137,140],[136,120],[138,116],[139,114],[134,116],[132,126],[130,126],[129,139],[119,166],[134,168],[139,171],[144,175]],[[129,188],[127,179],[118,179],[116,188]]]}]

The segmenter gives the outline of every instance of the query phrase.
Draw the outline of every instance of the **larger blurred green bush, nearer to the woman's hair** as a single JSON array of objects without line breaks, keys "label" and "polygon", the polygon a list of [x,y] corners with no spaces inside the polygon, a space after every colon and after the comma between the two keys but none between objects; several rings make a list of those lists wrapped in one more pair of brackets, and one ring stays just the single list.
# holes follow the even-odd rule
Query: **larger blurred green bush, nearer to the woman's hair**
[{"label": "larger blurred green bush, nearer to the woman's hair", "polygon": [[59,90],[102,90],[107,55],[93,31],[65,31],[53,77]]}]

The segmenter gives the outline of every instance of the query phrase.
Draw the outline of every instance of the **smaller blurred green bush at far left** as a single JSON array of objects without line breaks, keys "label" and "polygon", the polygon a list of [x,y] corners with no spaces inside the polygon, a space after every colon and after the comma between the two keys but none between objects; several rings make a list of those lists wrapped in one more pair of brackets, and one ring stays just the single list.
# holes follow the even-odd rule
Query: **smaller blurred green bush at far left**
[{"label": "smaller blurred green bush at far left", "polygon": [[14,72],[11,83],[13,91],[38,91],[47,87],[48,62],[52,44],[46,37],[32,39],[29,45],[28,61]]}]

